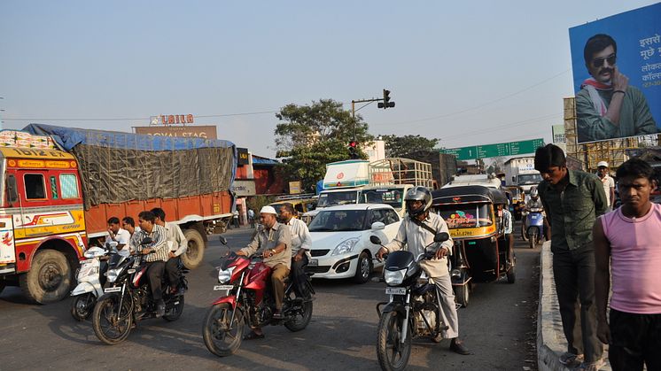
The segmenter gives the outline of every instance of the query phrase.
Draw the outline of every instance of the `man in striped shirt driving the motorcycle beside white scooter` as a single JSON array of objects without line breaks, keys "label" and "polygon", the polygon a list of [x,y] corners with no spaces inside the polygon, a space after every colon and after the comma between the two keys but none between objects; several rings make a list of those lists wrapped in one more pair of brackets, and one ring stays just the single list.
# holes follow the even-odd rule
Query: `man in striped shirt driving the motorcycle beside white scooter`
[{"label": "man in striped shirt driving the motorcycle beside white scooter", "polygon": [[[161,317],[165,314],[165,302],[163,302],[163,291],[160,288],[160,282],[165,272],[167,262],[167,237],[166,229],[155,223],[156,216],[152,212],[144,211],[137,215],[137,222],[140,230],[136,231],[131,237],[131,252],[137,251],[149,254],[147,260],[147,276],[149,277],[149,286],[152,289],[152,298],[156,303],[156,316]],[[141,245],[144,238],[150,237],[152,243]],[[153,251],[153,253],[151,253]]]}]

